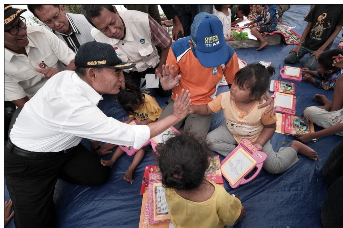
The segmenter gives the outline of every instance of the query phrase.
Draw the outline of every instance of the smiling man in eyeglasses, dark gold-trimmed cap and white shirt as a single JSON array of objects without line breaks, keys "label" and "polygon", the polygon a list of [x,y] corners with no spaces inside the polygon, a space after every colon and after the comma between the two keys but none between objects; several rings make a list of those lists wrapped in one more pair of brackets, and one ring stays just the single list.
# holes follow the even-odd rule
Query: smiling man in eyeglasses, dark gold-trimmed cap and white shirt
[{"label": "smiling man in eyeglasses, dark gold-trimmed cap and white shirt", "polygon": [[25,9],[5,5],[4,99],[17,109],[10,128],[24,104],[62,70],[75,70],[75,53],[52,32],[41,26],[26,26],[20,16]]}]

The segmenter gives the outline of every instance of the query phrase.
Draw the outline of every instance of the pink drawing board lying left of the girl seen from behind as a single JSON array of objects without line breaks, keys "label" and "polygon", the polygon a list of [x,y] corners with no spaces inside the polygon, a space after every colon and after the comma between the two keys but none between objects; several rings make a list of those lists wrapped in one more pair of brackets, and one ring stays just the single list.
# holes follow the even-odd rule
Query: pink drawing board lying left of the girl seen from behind
[{"label": "pink drawing board lying left of the girl seen from behind", "polygon": [[161,173],[149,173],[149,223],[170,222]]}]

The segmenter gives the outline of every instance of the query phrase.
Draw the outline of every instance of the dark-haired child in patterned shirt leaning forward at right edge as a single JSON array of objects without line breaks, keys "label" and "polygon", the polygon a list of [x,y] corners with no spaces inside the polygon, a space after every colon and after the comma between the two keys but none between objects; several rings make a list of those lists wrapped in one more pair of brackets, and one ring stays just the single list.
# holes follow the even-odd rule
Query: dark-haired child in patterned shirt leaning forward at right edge
[{"label": "dark-haired child in patterned shirt leaning forward at right edge", "polygon": [[[318,70],[309,70],[307,67],[303,68],[306,72],[304,75],[304,81],[309,81],[315,84],[317,88],[323,88],[328,90],[334,89],[336,80],[341,76],[341,69],[332,65],[332,57],[343,55],[343,50],[333,49],[327,52],[323,52],[318,57],[317,67]],[[311,75],[317,76],[319,79],[315,79]]]}]

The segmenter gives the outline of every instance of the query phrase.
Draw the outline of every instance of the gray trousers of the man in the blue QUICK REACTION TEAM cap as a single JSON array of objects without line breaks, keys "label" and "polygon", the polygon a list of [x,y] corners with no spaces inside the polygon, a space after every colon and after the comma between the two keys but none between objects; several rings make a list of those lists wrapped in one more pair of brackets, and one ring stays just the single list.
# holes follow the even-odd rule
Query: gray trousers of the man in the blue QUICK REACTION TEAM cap
[{"label": "gray trousers of the man in the blue QUICK REACTION TEAM cap", "polygon": [[[173,113],[173,105],[174,105],[174,100],[169,99],[167,107],[162,111],[161,116],[159,116],[158,120],[161,120]],[[206,134],[210,130],[211,126],[211,121],[212,121],[212,114],[203,116],[203,115],[198,115],[198,114],[189,114],[186,116],[185,119],[181,120],[180,122],[176,123],[174,125],[174,128],[176,129],[181,129],[183,126],[183,129],[192,132],[197,137],[202,137],[206,138]]]}]

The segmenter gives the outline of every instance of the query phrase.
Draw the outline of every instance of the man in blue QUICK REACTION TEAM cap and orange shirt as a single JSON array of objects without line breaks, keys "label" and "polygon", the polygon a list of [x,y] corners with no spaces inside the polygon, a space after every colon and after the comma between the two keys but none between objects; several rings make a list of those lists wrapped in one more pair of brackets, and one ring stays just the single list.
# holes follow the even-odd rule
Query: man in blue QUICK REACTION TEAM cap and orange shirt
[{"label": "man in blue QUICK REACTION TEAM cap and orange shirt", "polygon": [[[222,22],[213,14],[201,12],[194,17],[191,35],[171,45],[165,68],[162,76],[158,72],[161,85],[165,90],[173,89],[173,95],[159,119],[173,111],[175,94],[182,89],[192,94],[192,105],[209,103],[216,97],[223,76],[232,84],[239,65],[235,51],[225,42]],[[271,98],[267,105],[270,102]],[[205,137],[211,121],[212,115],[192,113],[174,127],[180,129],[183,126],[197,136]]]}]

